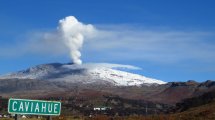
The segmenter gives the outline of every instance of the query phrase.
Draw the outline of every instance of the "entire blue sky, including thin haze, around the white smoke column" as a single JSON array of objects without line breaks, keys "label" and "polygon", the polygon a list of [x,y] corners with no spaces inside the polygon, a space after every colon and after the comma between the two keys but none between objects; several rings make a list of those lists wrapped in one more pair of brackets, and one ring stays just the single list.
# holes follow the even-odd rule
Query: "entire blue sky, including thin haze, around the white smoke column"
[{"label": "entire blue sky, including thin haze, around the white smoke column", "polygon": [[[0,74],[69,62],[66,54],[53,50],[29,52],[28,43],[40,39],[38,34],[56,30],[60,19],[72,15],[108,33],[100,41],[84,43],[84,63],[139,66],[143,70],[135,72],[164,81],[214,80],[214,4],[213,0],[1,0]],[[38,41],[35,46],[43,44]]]}]

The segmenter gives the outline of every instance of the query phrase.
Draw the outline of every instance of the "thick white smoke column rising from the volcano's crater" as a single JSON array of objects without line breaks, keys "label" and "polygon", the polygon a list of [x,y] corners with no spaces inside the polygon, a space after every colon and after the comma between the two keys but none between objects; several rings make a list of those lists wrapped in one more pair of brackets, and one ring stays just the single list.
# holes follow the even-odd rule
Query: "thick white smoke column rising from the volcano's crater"
[{"label": "thick white smoke column rising from the volcano's crater", "polygon": [[68,47],[70,57],[74,64],[82,64],[81,52],[84,39],[90,37],[95,31],[90,24],[79,22],[74,16],[68,16],[59,21],[58,30],[65,45]]}]

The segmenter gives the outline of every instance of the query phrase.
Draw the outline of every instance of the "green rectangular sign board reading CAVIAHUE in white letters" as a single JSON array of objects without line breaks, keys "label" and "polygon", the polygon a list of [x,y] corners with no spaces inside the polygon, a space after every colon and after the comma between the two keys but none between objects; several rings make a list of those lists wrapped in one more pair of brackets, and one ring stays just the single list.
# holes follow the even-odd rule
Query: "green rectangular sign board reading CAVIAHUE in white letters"
[{"label": "green rectangular sign board reading CAVIAHUE in white letters", "polygon": [[22,115],[48,115],[58,116],[61,112],[61,102],[9,99],[8,113]]}]

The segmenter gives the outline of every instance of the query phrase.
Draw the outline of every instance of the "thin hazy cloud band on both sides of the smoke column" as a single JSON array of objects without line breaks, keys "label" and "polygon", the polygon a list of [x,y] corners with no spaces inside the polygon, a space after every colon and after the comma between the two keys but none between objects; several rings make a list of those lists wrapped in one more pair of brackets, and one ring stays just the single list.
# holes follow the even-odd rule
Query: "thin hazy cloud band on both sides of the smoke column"
[{"label": "thin hazy cloud band on both sides of the smoke column", "polygon": [[[188,60],[214,62],[215,36],[213,34],[204,31],[102,26],[96,29],[93,37],[86,39],[82,51],[85,58],[97,61],[106,59],[157,63],[177,63]],[[0,47],[1,57],[26,54],[59,56],[68,54],[68,51],[57,33],[53,31],[36,32],[23,43]]]}]

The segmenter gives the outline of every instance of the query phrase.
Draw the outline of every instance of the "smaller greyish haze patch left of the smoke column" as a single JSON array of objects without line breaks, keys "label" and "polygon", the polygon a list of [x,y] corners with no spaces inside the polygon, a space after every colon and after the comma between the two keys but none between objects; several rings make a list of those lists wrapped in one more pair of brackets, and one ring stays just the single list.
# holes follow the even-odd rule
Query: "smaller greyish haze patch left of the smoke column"
[{"label": "smaller greyish haze patch left of the smoke column", "polygon": [[6,46],[0,45],[0,57],[22,57],[25,55],[62,55],[66,53],[57,32],[33,32],[27,38]]}]

